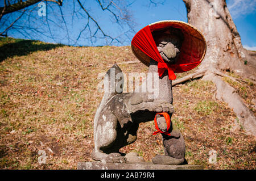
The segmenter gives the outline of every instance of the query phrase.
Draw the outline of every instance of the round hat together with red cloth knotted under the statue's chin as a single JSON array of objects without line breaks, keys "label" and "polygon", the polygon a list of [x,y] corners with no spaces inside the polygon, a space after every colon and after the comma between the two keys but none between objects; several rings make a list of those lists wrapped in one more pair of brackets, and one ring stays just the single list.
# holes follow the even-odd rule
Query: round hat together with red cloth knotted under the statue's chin
[{"label": "round hat together with red cloth knotted under the statue's chin", "polygon": [[[200,64],[201,60],[203,60],[206,43],[203,35],[199,31],[197,31],[192,26],[188,25],[184,22],[171,22],[173,24],[170,25],[170,22],[160,22],[151,24],[150,26],[146,26],[142,28],[136,35],[133,37],[131,44],[141,50],[148,57],[152,58],[155,61],[158,61],[158,73],[159,77],[161,77],[165,70],[168,71],[169,79],[176,79],[176,73],[181,73],[184,71],[191,70]],[[181,47],[181,53],[179,56],[179,60],[176,64],[168,64],[164,62],[162,56],[156,47],[154,38],[152,36],[153,31],[163,30],[167,27],[179,28],[184,34],[184,41]],[[191,35],[189,34],[191,33]],[[133,48],[134,51],[134,48]],[[135,54],[136,55],[136,54]],[[141,60],[141,58],[139,58]],[[142,61],[142,60],[141,60]],[[142,61],[144,64],[148,66],[148,60]]]}]

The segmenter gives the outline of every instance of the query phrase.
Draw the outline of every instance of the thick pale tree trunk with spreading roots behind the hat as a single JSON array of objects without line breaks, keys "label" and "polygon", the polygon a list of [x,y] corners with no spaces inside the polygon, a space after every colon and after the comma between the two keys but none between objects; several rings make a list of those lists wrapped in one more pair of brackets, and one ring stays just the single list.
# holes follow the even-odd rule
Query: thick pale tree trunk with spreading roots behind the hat
[{"label": "thick pale tree trunk with spreading roots behind the hat", "polygon": [[[217,89],[216,98],[228,103],[229,107],[233,108],[247,134],[256,136],[253,112],[233,91],[233,87],[218,77],[218,75],[229,77],[222,71],[229,70],[255,82],[255,60],[242,47],[241,37],[226,6],[226,1],[183,1],[187,7],[188,23],[195,26],[205,36],[207,53],[195,73],[174,81],[173,85],[196,77],[213,81]],[[245,61],[247,65],[245,65]]]}]

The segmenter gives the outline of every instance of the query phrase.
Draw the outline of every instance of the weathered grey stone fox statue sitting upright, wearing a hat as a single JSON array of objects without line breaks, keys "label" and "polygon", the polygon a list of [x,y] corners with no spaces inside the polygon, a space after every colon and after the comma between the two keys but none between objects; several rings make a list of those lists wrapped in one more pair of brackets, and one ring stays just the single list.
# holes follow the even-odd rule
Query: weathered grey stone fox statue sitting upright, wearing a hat
[{"label": "weathered grey stone fox statue sitting upright, wearing a hat", "polygon": [[[182,33],[175,28],[154,33],[154,40],[163,60],[175,64],[179,56]],[[105,75],[105,81],[113,85],[110,78],[111,70],[119,79],[114,79],[115,84],[121,82],[122,71],[117,64],[114,64]],[[158,73],[158,62],[151,59],[148,73]],[[158,85],[155,85],[155,81]],[[172,106],[172,86],[168,78],[167,71],[162,77],[157,76],[152,81],[154,89],[159,91],[157,97],[149,96],[150,92],[144,93],[122,93],[121,91],[105,91],[100,105],[97,108],[94,117],[94,149],[92,158],[96,161],[108,163],[127,162],[125,154],[119,153],[123,146],[133,143],[137,139],[137,130],[139,123],[154,120],[156,113],[167,112],[172,115],[174,108]],[[167,131],[166,120],[164,117],[156,116],[158,127],[161,131]],[[155,164],[180,165],[185,159],[185,144],[180,131],[171,124],[168,132],[171,136],[162,134],[164,151],[166,155],[156,155],[152,162]]]}]

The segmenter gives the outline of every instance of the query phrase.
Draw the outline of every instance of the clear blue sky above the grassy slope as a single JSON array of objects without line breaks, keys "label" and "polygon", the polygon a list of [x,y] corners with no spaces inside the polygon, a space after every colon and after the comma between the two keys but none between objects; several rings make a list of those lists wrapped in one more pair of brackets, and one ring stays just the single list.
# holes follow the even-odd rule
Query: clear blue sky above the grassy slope
[{"label": "clear blue sky above the grassy slope", "polygon": [[[123,45],[130,45],[130,41],[135,33],[147,24],[165,20],[181,20],[187,22],[187,11],[185,9],[185,5],[182,0],[166,0],[164,5],[158,4],[155,6],[154,4],[150,4],[149,0],[143,1],[134,1],[128,10],[131,15],[133,15],[133,20],[136,22],[134,24],[134,32],[129,33],[129,37],[127,37],[123,43]],[[256,0],[227,0],[228,9],[234,23],[237,26],[237,30],[241,35],[242,44],[247,49],[256,50]],[[92,41],[86,39],[86,35],[89,32],[84,31],[81,34],[81,38],[76,42],[76,39],[79,35],[79,32],[84,28],[86,22],[85,19],[82,18],[82,15],[77,15],[75,18],[71,18],[71,14],[73,12],[72,7],[73,1],[64,0],[62,12],[65,17],[65,21],[67,27],[65,27],[63,23],[63,19],[60,16],[60,10],[58,6],[53,6],[52,9],[47,9],[49,12],[49,19],[55,19],[55,22],[58,20],[61,22],[60,24],[48,22],[51,25],[51,33],[48,33],[47,36],[38,35],[35,32],[29,32],[28,35],[22,33],[22,29],[11,30],[8,32],[8,36],[15,38],[23,38],[23,39],[35,39],[41,40],[51,43],[63,43],[69,45],[104,45],[105,40],[102,39],[93,39]],[[0,0],[0,6],[3,5],[3,0]],[[109,35],[116,37],[121,35],[123,32],[129,30],[129,27],[119,27],[117,24],[113,23],[113,17],[110,17],[106,12],[102,12],[100,10],[100,6],[96,3],[95,0],[86,1],[85,5],[86,10],[88,10],[93,17],[97,20],[98,24],[100,24],[101,28],[108,33]],[[38,16],[39,7],[34,6],[34,9],[31,11],[31,14],[36,17],[34,20],[28,20],[28,16],[23,15],[22,18],[16,22],[17,26],[30,26],[41,28],[42,31],[48,31],[46,17]],[[17,12],[15,15],[18,16],[20,12]],[[15,17],[13,19],[15,19]],[[9,20],[11,20],[12,16],[6,16]],[[91,23],[92,24],[92,23]],[[5,26],[0,27],[0,31],[5,30]],[[60,28],[61,26],[62,28]],[[91,26],[93,32],[93,24]],[[67,31],[68,30],[68,31]],[[96,29],[95,29],[96,30]],[[52,39],[54,37],[54,40]],[[68,41],[68,38],[72,39]],[[121,44],[113,44],[113,45],[121,45]]]}]

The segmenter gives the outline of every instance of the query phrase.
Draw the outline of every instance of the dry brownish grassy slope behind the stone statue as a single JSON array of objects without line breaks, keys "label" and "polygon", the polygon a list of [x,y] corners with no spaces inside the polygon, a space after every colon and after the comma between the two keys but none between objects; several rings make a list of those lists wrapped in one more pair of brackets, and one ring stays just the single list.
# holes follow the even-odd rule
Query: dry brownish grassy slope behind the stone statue
[{"label": "dry brownish grassy slope behind the stone statue", "polygon": [[[131,60],[130,47],[68,47],[1,38],[0,168],[76,169],[77,162],[91,161],[93,117],[103,95],[97,91],[97,75],[114,62]],[[147,72],[141,63],[118,65],[125,73]],[[226,81],[255,112],[255,86]],[[255,169],[255,138],[242,127],[232,131],[236,115],[213,98],[214,91],[211,82],[200,79],[173,88],[172,121],[185,138],[188,163],[205,169]],[[152,136],[154,131],[152,121],[141,124],[137,141],[121,151],[137,151],[146,161],[163,154],[161,137]],[[39,150],[46,151],[46,164],[38,163]],[[210,150],[217,151],[216,164],[208,162]]]}]

